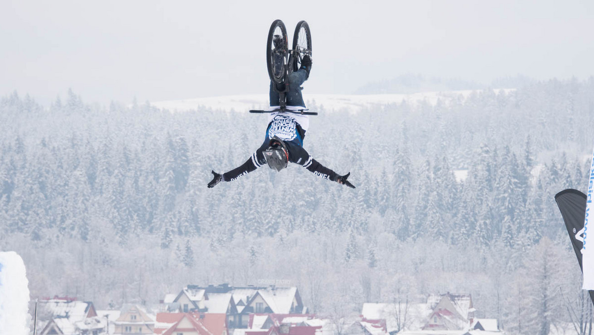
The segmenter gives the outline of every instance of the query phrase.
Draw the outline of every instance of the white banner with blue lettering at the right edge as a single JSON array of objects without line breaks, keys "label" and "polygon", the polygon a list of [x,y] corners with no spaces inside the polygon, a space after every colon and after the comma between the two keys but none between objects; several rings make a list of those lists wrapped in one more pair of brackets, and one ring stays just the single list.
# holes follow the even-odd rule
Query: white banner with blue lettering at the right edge
[{"label": "white banner with blue lettering at the right edge", "polygon": [[594,206],[592,196],[594,193],[594,151],[592,152],[592,165],[588,180],[588,192],[586,193],[586,217],[584,218],[584,247],[582,249],[582,265],[584,272],[584,290],[594,290],[594,234],[588,237],[590,231],[594,232],[594,222],[589,225],[588,221],[594,221]]}]

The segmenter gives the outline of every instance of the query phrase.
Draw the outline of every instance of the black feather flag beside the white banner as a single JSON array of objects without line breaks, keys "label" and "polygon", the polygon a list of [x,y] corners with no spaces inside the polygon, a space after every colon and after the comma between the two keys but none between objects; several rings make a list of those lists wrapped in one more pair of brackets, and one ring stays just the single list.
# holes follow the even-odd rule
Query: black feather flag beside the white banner
[{"label": "black feather flag beside the white banner", "polygon": [[[567,189],[555,195],[555,201],[565,221],[573,251],[582,269],[582,248],[584,243],[584,218],[586,217],[586,195],[579,190]],[[590,299],[594,303],[594,290],[589,290]]]}]

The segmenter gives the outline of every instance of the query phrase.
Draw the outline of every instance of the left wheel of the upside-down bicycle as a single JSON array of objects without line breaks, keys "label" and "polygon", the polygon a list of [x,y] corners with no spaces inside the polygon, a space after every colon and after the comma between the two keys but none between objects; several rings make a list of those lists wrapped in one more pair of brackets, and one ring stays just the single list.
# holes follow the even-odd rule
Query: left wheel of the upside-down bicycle
[{"label": "left wheel of the upside-down bicycle", "polygon": [[285,81],[288,46],[289,40],[285,24],[281,20],[274,20],[268,31],[268,41],[266,42],[266,65],[270,80],[277,84]]}]

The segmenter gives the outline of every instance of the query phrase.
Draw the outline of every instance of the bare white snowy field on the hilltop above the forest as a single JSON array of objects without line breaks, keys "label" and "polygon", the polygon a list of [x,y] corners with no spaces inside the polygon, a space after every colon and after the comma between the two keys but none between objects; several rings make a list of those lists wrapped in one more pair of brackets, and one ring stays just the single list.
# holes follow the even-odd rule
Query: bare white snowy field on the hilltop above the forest
[{"label": "bare white snowy field on the hilltop above the forest", "polygon": [[[494,89],[496,93],[511,92],[514,89]],[[435,105],[438,100],[445,104],[454,99],[466,99],[473,90],[459,90],[448,92],[421,92],[412,94],[375,94],[375,95],[332,95],[304,93],[305,104],[311,111],[315,107],[323,106],[325,111],[347,110],[356,112],[363,108],[386,104],[400,104],[406,101],[416,105],[425,102]],[[247,111],[249,109],[264,109],[268,107],[268,94],[214,96],[210,98],[195,98],[172,101],[151,102],[157,108],[169,111],[187,111],[203,106],[223,111]]]}]

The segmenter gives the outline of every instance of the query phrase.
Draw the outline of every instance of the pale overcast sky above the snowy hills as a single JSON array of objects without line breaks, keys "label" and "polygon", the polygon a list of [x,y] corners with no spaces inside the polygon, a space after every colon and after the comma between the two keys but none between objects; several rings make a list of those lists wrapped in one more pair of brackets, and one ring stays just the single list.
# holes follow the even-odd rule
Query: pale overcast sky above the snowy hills
[{"label": "pale overcast sky above the snowy hills", "polygon": [[414,73],[489,83],[594,74],[594,1],[0,0],[0,95],[106,104],[267,93],[266,37],[312,30],[306,91]]}]

